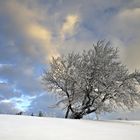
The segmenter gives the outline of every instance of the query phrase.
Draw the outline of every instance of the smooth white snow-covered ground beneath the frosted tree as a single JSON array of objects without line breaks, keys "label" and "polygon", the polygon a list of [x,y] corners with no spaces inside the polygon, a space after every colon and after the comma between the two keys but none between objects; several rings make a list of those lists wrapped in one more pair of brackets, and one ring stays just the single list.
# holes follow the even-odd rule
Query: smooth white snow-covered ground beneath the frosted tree
[{"label": "smooth white snow-covered ground beneath the frosted tree", "polygon": [[0,115],[0,140],[140,140],[140,121]]}]

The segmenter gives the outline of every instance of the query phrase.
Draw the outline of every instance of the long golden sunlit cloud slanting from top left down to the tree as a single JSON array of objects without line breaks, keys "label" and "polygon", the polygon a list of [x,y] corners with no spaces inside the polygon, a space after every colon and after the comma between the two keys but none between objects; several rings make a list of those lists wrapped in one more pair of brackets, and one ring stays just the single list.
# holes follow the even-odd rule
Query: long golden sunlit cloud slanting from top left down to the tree
[{"label": "long golden sunlit cloud slanting from top left down to the tree", "polygon": [[[24,37],[26,45],[21,44],[22,50],[29,51],[30,54],[37,54],[36,50],[40,50],[42,59],[45,58],[45,60],[59,54],[52,43],[51,30],[47,25],[42,25],[41,21],[44,21],[46,17],[43,18],[37,8],[30,8],[28,2],[22,3],[17,0],[5,1],[0,7],[11,20],[11,24],[7,27],[12,32],[10,38],[16,40],[19,35]],[[32,42],[36,43],[37,49],[31,45]]]}]

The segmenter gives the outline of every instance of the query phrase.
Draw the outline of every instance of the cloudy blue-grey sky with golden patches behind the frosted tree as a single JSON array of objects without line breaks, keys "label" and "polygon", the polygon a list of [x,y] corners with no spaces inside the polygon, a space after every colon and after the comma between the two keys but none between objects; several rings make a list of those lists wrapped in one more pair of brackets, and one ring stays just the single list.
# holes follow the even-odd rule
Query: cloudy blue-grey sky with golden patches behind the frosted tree
[{"label": "cloudy blue-grey sky with golden patches behind the frosted tree", "polygon": [[104,39],[130,72],[140,69],[140,0],[0,0],[0,113],[60,115],[41,84],[43,69],[52,56]]}]

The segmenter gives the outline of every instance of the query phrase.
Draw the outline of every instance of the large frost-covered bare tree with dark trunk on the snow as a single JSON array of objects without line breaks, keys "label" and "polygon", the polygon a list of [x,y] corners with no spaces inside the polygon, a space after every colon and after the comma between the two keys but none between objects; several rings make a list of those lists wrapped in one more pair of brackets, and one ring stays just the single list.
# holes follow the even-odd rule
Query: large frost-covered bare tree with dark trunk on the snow
[{"label": "large frost-covered bare tree with dark trunk on the snow", "polygon": [[52,58],[43,83],[60,98],[56,105],[66,109],[65,118],[130,110],[140,102],[140,73],[129,73],[119,60],[118,50],[104,41],[81,54]]}]

